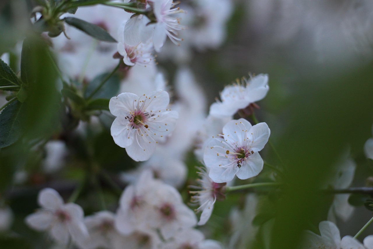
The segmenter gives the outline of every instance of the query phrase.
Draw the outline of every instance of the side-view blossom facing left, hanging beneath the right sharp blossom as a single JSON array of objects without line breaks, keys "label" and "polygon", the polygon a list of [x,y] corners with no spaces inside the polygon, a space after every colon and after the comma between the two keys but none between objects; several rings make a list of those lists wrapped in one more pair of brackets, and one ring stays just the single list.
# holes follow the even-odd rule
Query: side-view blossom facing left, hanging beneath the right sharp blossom
[{"label": "side-view blossom facing left, hanging beneath the right sharp blossom", "polygon": [[209,220],[216,200],[224,200],[224,189],[226,183],[216,183],[209,176],[209,170],[204,167],[198,167],[200,179],[198,179],[199,186],[189,186],[189,188],[196,189],[196,191],[189,191],[195,194],[191,198],[191,202],[200,205],[196,212],[202,212],[200,221],[197,225],[204,225]]}]

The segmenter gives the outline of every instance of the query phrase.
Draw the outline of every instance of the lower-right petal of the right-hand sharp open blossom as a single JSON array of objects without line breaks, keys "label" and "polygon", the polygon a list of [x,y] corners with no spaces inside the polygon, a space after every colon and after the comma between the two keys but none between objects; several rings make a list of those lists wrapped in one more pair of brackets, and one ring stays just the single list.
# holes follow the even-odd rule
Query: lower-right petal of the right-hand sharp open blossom
[{"label": "lower-right petal of the right-hand sharp open blossom", "polygon": [[257,176],[262,169],[263,159],[261,159],[259,153],[254,152],[254,154],[248,156],[248,158],[242,162],[242,165],[236,175],[239,179],[244,180]]}]

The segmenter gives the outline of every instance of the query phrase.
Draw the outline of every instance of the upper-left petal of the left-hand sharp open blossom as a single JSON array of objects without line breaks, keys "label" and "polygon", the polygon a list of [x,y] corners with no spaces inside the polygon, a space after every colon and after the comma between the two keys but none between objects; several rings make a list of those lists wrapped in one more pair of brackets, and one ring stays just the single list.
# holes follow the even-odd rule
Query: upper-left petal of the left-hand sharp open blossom
[{"label": "upper-left petal of the left-hand sharp open blossom", "polygon": [[[133,93],[120,93],[117,97],[113,97],[109,102],[109,110],[114,116],[126,116],[134,109],[135,100],[139,97]],[[136,105],[135,105],[136,106]]]}]

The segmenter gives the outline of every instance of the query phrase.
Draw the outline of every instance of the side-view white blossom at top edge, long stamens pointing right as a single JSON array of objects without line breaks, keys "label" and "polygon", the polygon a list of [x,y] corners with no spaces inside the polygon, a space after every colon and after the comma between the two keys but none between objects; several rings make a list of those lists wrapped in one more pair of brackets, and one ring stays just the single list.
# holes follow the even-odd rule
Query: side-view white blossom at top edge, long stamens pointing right
[{"label": "side-view white blossom at top edge, long stamens pointing right", "polygon": [[172,0],[152,0],[148,2],[153,6],[154,15],[157,19],[153,33],[154,49],[160,52],[167,36],[173,43],[179,44],[178,41],[181,41],[181,39],[176,36],[178,35],[177,31],[182,30],[182,27],[180,19],[173,15],[182,13],[183,10],[175,8]]}]

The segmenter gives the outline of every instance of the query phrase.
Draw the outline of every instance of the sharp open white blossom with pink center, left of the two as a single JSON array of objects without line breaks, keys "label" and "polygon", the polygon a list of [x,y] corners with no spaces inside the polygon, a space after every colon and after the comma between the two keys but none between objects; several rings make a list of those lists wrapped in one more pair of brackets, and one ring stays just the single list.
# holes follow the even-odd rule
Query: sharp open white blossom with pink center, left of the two
[{"label": "sharp open white blossom with pink center, left of the two", "polygon": [[173,131],[178,113],[167,108],[169,101],[168,93],[162,90],[140,97],[120,93],[110,99],[110,112],[117,116],[111,135],[135,161],[148,160],[156,144]]}]

